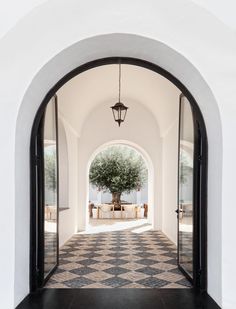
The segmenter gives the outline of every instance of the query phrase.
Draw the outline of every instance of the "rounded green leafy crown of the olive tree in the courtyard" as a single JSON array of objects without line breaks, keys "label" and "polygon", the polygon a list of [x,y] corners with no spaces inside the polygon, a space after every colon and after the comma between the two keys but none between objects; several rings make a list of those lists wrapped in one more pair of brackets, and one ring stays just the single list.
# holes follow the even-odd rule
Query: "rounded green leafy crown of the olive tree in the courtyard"
[{"label": "rounded green leafy crown of the olive tree in the courtyard", "polygon": [[89,179],[102,191],[126,192],[140,189],[147,180],[143,158],[126,146],[112,146],[99,153],[93,160]]}]

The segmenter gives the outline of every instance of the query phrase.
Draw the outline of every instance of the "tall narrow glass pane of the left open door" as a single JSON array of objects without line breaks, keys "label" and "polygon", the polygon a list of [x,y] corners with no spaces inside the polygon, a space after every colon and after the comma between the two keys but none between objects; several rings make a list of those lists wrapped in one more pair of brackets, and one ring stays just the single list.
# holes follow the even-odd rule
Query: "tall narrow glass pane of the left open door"
[{"label": "tall narrow glass pane of the left open door", "polygon": [[56,267],[57,235],[57,125],[56,105],[52,100],[46,107],[44,119],[44,279]]}]

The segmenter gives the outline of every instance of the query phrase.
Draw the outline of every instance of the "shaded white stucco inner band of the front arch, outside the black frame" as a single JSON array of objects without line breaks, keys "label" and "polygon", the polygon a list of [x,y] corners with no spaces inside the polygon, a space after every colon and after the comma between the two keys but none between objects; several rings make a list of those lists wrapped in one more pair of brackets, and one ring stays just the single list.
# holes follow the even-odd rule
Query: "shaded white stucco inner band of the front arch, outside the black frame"
[{"label": "shaded white stucco inner band of the front arch, outside the black frame", "polygon": [[[80,55],[78,57],[78,55]],[[91,60],[108,56],[128,56],[150,61],[168,70],[178,78],[193,94],[197,100],[206,122],[209,139],[209,231],[208,231],[208,261],[209,261],[209,284],[208,291],[214,295],[220,295],[221,282],[221,248],[214,245],[215,230],[219,232],[221,226],[221,166],[222,166],[222,140],[221,140],[221,121],[219,110],[215,98],[197,69],[182,55],[174,51],[167,45],[153,39],[144,38],[130,34],[107,34],[88,38],[72,45],[60,52],[51,59],[34,77],[31,85],[25,93],[21,104],[16,128],[16,208],[17,218],[24,218],[16,221],[16,286],[22,277],[27,277],[22,290],[28,289],[28,259],[29,259],[29,230],[27,222],[29,220],[29,170],[27,162],[22,164],[23,158],[29,156],[30,130],[34,115],[37,112],[45,93],[66,73],[78,65]],[[24,145],[24,149],[22,149]],[[215,146],[217,145],[217,149]],[[217,168],[216,168],[217,166]],[[24,191],[17,186],[19,179],[24,175]],[[24,192],[24,194],[23,194]],[[24,206],[22,206],[24,205]],[[22,209],[23,207],[23,209]],[[217,212],[216,212],[217,208]],[[18,247],[17,238],[19,230],[24,226],[25,251]],[[219,238],[221,236],[219,235]],[[216,253],[218,252],[218,253]],[[22,258],[20,258],[22,256]],[[216,258],[217,256],[217,258]],[[24,266],[22,267],[22,264]],[[21,267],[19,267],[21,265]],[[215,270],[219,270],[216,272]],[[18,284],[17,284],[18,283]],[[22,284],[21,284],[22,286]],[[16,290],[17,299],[21,292]],[[216,296],[216,297],[218,297]]]}]

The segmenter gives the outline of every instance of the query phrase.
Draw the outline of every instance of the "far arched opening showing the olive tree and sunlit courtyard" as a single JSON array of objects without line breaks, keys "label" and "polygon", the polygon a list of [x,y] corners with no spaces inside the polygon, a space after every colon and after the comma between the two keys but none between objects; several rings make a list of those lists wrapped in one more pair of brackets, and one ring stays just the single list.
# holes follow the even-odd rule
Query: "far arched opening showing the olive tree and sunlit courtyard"
[{"label": "far arched opening showing the olive tree and sunlit courtyard", "polygon": [[[104,166],[100,166],[101,161]],[[122,191],[115,207],[113,194],[105,183],[110,176],[110,166],[120,177]],[[136,170],[135,170],[136,169]],[[130,170],[134,177],[129,178]],[[100,177],[100,171],[106,171]],[[128,183],[126,183],[128,179]],[[100,184],[100,185],[99,185]],[[117,190],[112,190],[117,191]],[[100,146],[88,163],[88,205],[86,230],[97,226],[98,230],[117,230],[144,223],[153,224],[153,165],[147,153],[129,141],[111,141]],[[111,209],[110,209],[111,207]],[[149,208],[149,211],[148,211]],[[111,210],[111,211],[110,211]],[[110,220],[103,220],[110,219]],[[143,219],[143,220],[141,220]],[[110,222],[110,227],[108,227]],[[135,223],[136,222],[136,223]],[[93,228],[92,228],[93,229]],[[103,230],[104,229],[104,230]]]}]

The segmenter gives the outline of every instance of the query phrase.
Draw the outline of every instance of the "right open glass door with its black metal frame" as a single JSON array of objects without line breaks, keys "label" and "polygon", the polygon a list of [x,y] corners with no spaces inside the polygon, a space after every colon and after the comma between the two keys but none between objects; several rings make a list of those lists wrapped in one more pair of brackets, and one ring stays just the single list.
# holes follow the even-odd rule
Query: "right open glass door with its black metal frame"
[{"label": "right open glass door with its black metal frame", "polygon": [[[206,140],[198,111],[180,96],[178,172],[178,266],[193,284],[206,288]],[[205,168],[205,170],[204,170]],[[205,181],[205,182],[204,182]]]}]

